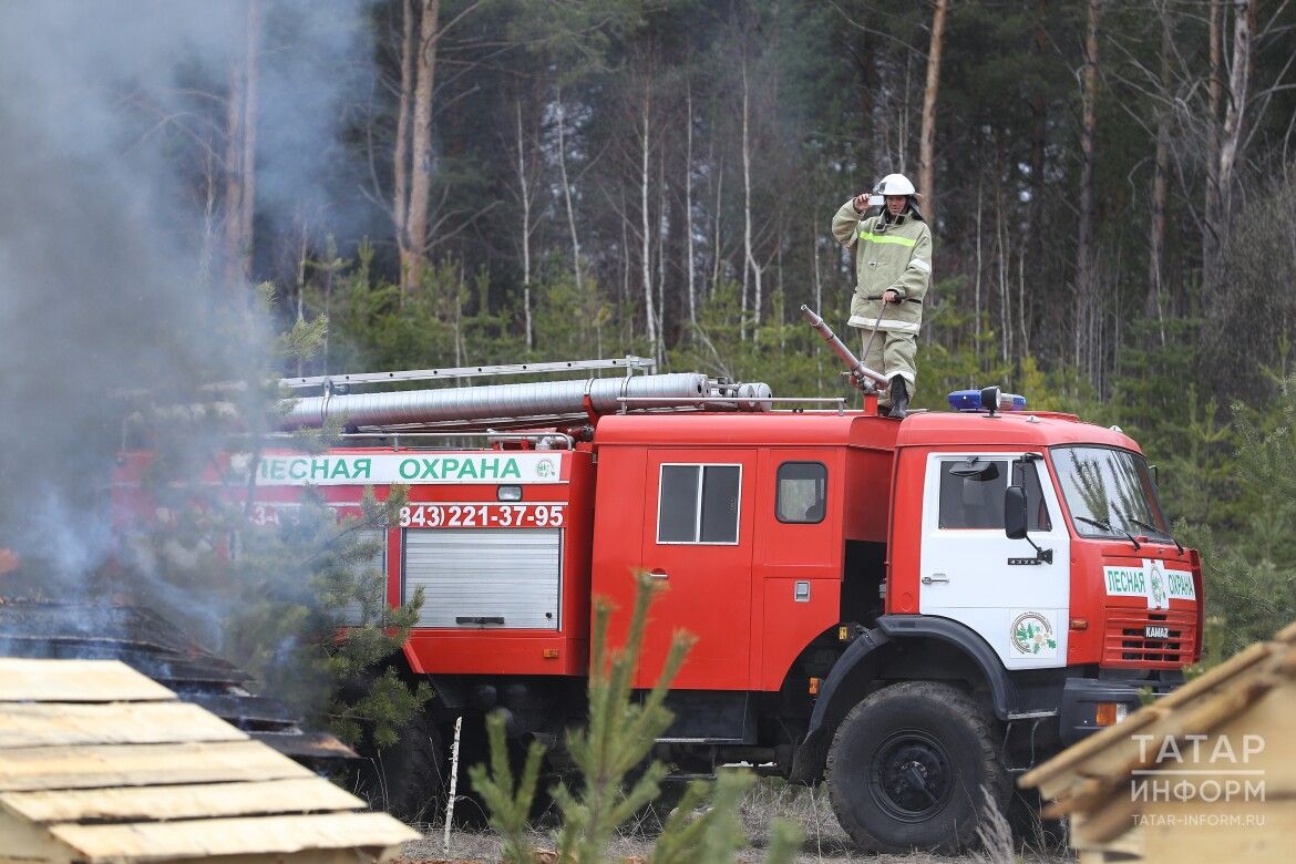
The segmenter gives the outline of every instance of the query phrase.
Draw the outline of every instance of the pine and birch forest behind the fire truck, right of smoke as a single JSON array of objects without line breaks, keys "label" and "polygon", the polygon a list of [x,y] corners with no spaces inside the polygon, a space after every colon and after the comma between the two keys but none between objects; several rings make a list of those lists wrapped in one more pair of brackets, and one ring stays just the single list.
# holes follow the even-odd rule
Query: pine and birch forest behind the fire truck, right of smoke
[{"label": "pine and birch forest behind the fire truck, right of smoke", "polygon": [[211,123],[241,161],[194,177],[242,202],[226,267],[328,316],[302,372],[634,352],[842,394],[797,308],[845,330],[831,216],[899,171],[936,237],[918,404],[997,382],[1120,425],[1207,553],[1214,655],[1296,614],[1290,3],[391,0],[368,26],[330,194],[246,219],[254,61],[242,127]]}]

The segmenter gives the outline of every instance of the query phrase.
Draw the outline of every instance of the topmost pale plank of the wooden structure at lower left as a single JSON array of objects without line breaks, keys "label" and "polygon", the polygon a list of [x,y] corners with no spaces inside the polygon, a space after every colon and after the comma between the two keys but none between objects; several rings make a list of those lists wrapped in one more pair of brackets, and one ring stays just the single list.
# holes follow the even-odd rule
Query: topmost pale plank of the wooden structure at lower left
[{"label": "topmost pale plank of the wooden structure at lower left", "polygon": [[175,693],[121,661],[0,657],[0,702],[126,702]]}]

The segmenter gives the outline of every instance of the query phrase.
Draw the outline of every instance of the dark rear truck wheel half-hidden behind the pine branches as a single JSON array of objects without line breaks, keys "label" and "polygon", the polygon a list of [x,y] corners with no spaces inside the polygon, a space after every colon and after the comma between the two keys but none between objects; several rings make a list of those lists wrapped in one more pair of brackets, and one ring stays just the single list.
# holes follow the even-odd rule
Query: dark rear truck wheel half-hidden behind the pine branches
[{"label": "dark rear truck wheel half-hidden behind the pine branches", "polygon": [[445,806],[450,782],[441,733],[425,711],[400,731],[400,741],[375,760],[385,810],[404,821],[430,821]]}]

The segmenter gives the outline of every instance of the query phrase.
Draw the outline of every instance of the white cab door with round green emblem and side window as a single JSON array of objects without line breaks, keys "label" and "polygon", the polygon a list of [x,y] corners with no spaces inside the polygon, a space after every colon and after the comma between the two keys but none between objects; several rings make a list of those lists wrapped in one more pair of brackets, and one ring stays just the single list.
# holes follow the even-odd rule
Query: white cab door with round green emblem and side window
[{"label": "white cab door with round green emblem and side window", "polygon": [[[976,456],[977,462],[969,460]],[[1034,560],[1028,540],[1003,531],[1003,490],[1020,453],[932,453],[923,494],[919,611],[963,623],[980,633],[1007,668],[1067,665],[1070,608],[1070,538],[1045,464],[1028,484],[1030,539],[1052,549],[1052,563]],[[994,469],[990,469],[990,466]],[[950,468],[985,469],[985,479],[949,475]],[[993,475],[993,477],[991,477]],[[942,484],[942,477],[945,483]],[[1047,516],[1039,510],[1047,508]],[[1051,523],[1045,527],[1045,523]]]}]

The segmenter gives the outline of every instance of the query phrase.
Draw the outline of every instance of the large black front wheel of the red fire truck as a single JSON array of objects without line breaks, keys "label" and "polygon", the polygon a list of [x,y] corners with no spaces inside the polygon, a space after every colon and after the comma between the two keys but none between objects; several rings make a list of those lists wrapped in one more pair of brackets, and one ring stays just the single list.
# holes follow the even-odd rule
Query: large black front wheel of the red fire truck
[{"label": "large black front wheel of the red fire truck", "polygon": [[953,855],[972,845],[982,810],[1002,808],[1010,791],[991,728],[947,684],[877,690],[850,710],[828,750],[837,821],[871,852]]}]

